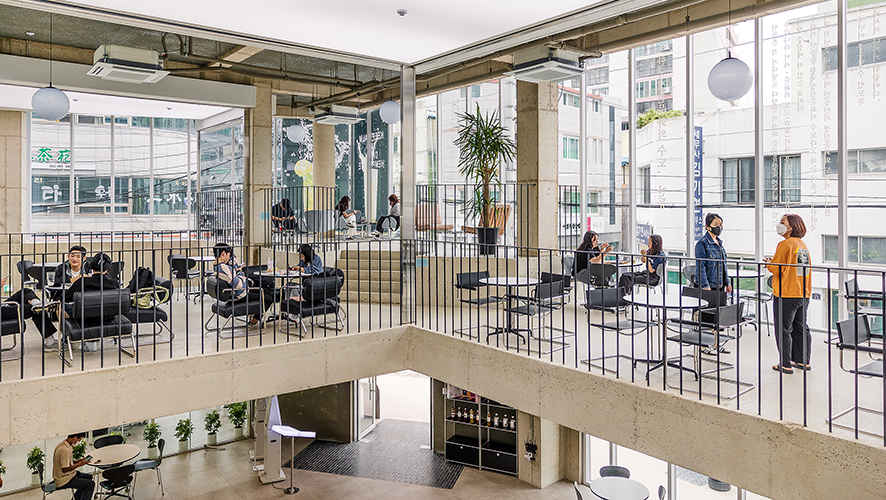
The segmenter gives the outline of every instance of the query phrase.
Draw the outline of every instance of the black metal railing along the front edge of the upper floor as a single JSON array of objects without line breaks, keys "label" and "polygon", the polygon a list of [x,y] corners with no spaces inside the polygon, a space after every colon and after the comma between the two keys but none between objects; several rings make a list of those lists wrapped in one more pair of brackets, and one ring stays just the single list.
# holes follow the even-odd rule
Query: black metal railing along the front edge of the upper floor
[{"label": "black metal railing along the front edge of the upper floor", "polygon": [[[0,357],[0,380],[379,330],[410,317],[418,327],[515,355],[845,437],[868,440],[886,430],[886,382],[878,361],[884,356],[884,270],[669,257],[657,270],[658,283],[633,286],[625,276],[647,266],[643,255],[613,253],[594,262],[595,256],[574,250],[498,245],[489,251],[464,241],[338,239],[310,243],[328,268],[323,277],[332,278],[323,282],[281,272],[299,263],[296,247],[244,246],[220,237],[231,246],[235,262],[250,264],[243,271],[252,290],[233,304],[224,296],[225,286],[213,288],[211,244],[187,233],[132,241],[100,236],[0,235],[0,275],[11,275],[3,295],[17,293],[18,299],[17,307],[3,307],[0,334],[8,350]],[[71,328],[65,320],[59,324],[59,309],[53,309],[61,307],[53,305],[60,293],[54,276],[75,243],[86,248],[87,258],[108,254],[122,286],[139,281],[136,270],[150,269],[156,286],[171,283],[172,297],[164,301],[143,290],[137,298],[146,307],[128,320],[131,333],[120,327],[126,321],[108,319],[126,316],[114,314],[122,313],[122,303],[106,304],[96,321],[109,328],[88,339],[97,344],[46,351],[45,325]],[[412,247],[414,257],[403,251]],[[591,259],[586,268],[584,257]],[[721,284],[731,289],[711,295],[691,286],[694,273],[688,268],[700,262],[725,265],[728,283]],[[277,272],[268,273],[269,268]],[[779,365],[778,324],[789,304],[772,289],[786,284],[785,273],[794,269],[809,277],[811,291],[802,292],[810,335],[796,336],[800,358],[792,361],[807,364],[803,353],[809,349],[813,369],[791,365],[773,371]],[[43,309],[34,309],[30,294],[18,293],[22,289],[32,290]],[[301,314],[296,296],[316,300],[319,308],[311,313],[316,314]],[[133,305],[138,301],[130,302],[130,309]],[[213,312],[231,307],[231,321]],[[16,327],[17,310],[27,316],[19,325],[24,328]],[[71,315],[70,321],[77,321]],[[262,323],[247,325],[253,315]],[[79,344],[79,339],[71,343]],[[874,442],[886,445],[882,437]]]}]

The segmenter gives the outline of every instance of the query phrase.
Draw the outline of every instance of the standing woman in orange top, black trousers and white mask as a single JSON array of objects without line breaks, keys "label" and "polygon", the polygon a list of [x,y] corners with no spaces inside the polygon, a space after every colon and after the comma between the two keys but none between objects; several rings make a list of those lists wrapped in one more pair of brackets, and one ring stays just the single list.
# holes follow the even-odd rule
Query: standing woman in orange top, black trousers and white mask
[{"label": "standing woman in orange top, black trousers and white mask", "polygon": [[786,214],[775,228],[784,241],[778,244],[775,256],[766,259],[769,263],[766,267],[772,273],[775,342],[781,358],[772,369],[794,373],[793,368],[811,369],[812,335],[806,326],[806,314],[812,295],[812,277],[811,271],[802,267],[808,266],[810,259],[809,249],[801,239],[806,236],[806,225],[799,215]]}]

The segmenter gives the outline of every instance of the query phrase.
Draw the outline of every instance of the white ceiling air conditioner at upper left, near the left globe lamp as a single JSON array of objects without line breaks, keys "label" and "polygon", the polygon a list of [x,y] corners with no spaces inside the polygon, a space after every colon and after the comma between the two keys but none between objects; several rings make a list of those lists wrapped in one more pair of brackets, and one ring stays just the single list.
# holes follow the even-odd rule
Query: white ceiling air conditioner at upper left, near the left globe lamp
[{"label": "white ceiling air conditioner at upper left, near the left globe lamp", "polygon": [[87,73],[104,80],[129,83],[156,83],[168,75],[155,50],[134,49],[121,45],[101,45],[92,58]]}]

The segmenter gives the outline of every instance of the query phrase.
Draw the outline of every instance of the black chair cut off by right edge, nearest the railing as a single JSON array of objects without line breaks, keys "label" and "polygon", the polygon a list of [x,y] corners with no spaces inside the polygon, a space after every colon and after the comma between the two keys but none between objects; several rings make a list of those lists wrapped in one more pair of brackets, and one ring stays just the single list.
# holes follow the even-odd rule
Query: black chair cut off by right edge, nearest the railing
[{"label": "black chair cut off by right edge, nearest the railing", "polygon": [[[867,315],[862,314],[845,321],[840,321],[837,323],[837,335],[839,339],[837,342],[837,349],[840,350],[841,370],[861,377],[883,378],[883,356],[886,355],[886,349],[884,349],[883,344],[879,342],[879,339],[876,339],[871,335],[871,325]],[[848,367],[844,365],[844,362],[846,361],[844,353],[846,351],[849,352],[851,355],[849,358],[853,361],[852,365]],[[866,355],[867,359],[862,360],[863,354]],[[875,358],[874,355],[879,355],[880,357]],[[870,360],[872,360],[872,362],[868,362]],[[862,362],[866,364],[859,366]],[[855,427],[836,422],[838,418],[851,412],[864,412],[878,415],[880,417],[883,416],[883,412],[880,410],[866,408],[856,403],[826,419],[825,422],[840,429],[850,431],[857,430],[858,432],[869,436],[883,437],[882,434],[873,431],[865,431],[861,428],[856,429]]]}]

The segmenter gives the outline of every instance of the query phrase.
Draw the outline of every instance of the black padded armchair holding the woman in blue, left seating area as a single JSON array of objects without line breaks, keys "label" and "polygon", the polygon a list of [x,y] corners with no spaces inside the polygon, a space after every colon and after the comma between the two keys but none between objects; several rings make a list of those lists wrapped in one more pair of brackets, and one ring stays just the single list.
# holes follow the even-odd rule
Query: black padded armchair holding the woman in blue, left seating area
[{"label": "black padded armchair holding the woman in blue, left seating area", "polygon": [[[344,328],[344,318],[341,314],[341,299],[339,294],[344,286],[344,272],[341,269],[332,269],[326,271],[325,276],[315,276],[305,278],[299,290],[299,296],[302,300],[293,300],[288,296],[284,296],[280,302],[281,317],[288,321],[294,321],[299,324],[301,333],[292,333],[289,329],[283,329],[282,323],[278,325],[277,330],[287,335],[298,335],[303,338],[308,333],[305,326],[305,318],[311,318],[311,325],[321,328],[327,328],[327,322],[315,323],[316,316],[325,316],[327,314],[335,315],[335,330]],[[339,326],[341,325],[341,326]]]}]

